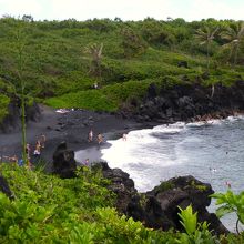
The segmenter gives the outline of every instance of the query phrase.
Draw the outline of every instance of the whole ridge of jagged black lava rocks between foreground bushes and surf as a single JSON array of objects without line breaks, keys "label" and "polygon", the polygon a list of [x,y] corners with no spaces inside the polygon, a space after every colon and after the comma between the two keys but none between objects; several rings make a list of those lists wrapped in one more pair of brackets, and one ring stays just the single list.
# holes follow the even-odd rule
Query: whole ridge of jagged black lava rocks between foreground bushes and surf
[{"label": "whole ridge of jagged black lava rocks between foreground bushes and surf", "polygon": [[128,173],[120,169],[110,169],[105,162],[95,164],[92,169],[98,167],[110,180],[108,189],[116,194],[118,211],[134,221],[141,221],[146,227],[164,231],[173,227],[182,231],[179,206],[186,209],[192,205],[193,211],[197,212],[199,222],[210,223],[210,230],[216,235],[228,233],[217,216],[206,210],[211,204],[210,195],[214,193],[210,184],[189,175],[173,177],[150,192],[139,194]]}]

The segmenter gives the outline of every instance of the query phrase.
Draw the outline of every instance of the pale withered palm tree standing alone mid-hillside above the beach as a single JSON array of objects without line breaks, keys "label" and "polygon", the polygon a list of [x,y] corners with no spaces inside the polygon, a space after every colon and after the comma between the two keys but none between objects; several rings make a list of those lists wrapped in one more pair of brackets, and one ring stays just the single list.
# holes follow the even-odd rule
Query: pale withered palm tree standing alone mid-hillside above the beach
[{"label": "pale withered palm tree standing alone mid-hillside above the beach", "polygon": [[101,61],[102,61],[102,49],[103,43],[101,44],[89,44],[84,48],[84,52],[88,53],[91,58],[91,65],[89,72],[99,77],[101,79]]}]

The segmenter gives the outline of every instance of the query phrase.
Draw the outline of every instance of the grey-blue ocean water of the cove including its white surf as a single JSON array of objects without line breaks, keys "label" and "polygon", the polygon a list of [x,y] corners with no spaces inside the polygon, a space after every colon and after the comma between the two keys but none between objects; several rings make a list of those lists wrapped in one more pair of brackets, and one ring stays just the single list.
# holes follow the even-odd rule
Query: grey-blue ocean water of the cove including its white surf
[{"label": "grey-blue ocean water of the cove including its white surf", "polygon": [[[109,141],[102,159],[120,167],[135,182],[139,192],[152,190],[161,181],[193,175],[210,183],[215,192],[244,191],[244,118],[230,116],[207,123],[159,125],[131,131],[126,141]],[[210,212],[216,209],[214,201]],[[235,215],[222,218],[234,231]]]}]

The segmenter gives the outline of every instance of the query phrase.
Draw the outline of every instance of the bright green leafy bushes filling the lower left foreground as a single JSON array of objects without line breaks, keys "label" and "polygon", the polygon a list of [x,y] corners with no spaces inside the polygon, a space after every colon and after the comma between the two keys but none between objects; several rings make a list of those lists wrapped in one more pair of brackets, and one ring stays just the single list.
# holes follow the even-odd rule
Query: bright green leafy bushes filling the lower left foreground
[{"label": "bright green leafy bushes filling the lower left foreground", "polygon": [[1,165],[14,193],[0,193],[0,243],[165,243],[172,233],[145,228],[119,215],[99,172],[87,167],[61,180],[40,171]]}]

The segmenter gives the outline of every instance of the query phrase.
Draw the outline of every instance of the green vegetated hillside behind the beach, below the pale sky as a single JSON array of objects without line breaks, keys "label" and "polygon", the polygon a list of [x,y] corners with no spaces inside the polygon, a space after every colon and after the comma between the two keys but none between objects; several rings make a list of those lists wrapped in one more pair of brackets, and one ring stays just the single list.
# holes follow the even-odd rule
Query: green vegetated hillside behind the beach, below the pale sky
[{"label": "green vegetated hillside behind the beach, below the pale sky", "polygon": [[244,23],[3,17],[0,53],[1,118],[21,92],[30,103],[116,111],[142,99],[152,82],[243,80]]}]

